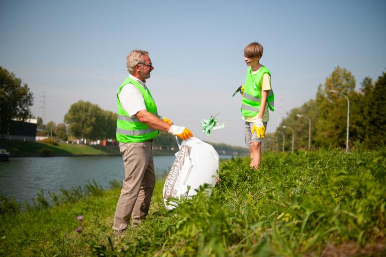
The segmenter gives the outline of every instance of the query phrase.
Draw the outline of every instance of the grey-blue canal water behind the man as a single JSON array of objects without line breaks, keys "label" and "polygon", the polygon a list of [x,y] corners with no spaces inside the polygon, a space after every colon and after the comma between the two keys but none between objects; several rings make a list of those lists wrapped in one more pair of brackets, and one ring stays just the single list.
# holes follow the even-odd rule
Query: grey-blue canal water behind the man
[{"label": "grey-blue canal water behind the man", "polygon": [[[170,170],[174,156],[154,156],[157,179],[163,178]],[[228,159],[230,156],[220,156]],[[121,156],[90,157],[21,157],[0,162],[0,194],[24,203],[36,198],[43,189],[46,199],[49,193],[60,194],[60,188],[86,185],[92,180],[109,188],[112,180],[122,181],[125,176]]]}]

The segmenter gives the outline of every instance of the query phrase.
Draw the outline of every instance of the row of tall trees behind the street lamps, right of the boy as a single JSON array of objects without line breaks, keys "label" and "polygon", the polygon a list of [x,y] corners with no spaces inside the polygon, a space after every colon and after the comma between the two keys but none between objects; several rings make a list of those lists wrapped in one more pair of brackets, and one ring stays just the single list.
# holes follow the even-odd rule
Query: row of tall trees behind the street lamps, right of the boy
[{"label": "row of tall trees behind the street lamps, right of the boy", "polygon": [[292,132],[282,126],[294,130],[294,149],[307,149],[309,140],[309,121],[297,114],[311,119],[311,146],[339,147],[346,146],[347,100],[345,97],[331,92],[335,90],[348,97],[350,101],[349,145],[361,142],[367,148],[376,148],[386,142],[386,73],[383,72],[376,81],[366,77],[359,90],[355,90],[354,76],[345,68],[336,67],[320,84],[315,99],[310,99],[302,106],[287,112],[276,129],[268,134],[275,137],[278,149],[282,147],[282,135],[285,135],[285,149],[292,147]]}]

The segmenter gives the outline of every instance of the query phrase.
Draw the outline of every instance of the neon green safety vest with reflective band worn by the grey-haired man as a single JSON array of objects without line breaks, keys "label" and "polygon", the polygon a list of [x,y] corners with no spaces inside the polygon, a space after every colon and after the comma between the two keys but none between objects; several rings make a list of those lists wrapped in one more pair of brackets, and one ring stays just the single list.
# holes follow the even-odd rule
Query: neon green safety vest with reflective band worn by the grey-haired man
[{"label": "neon green safety vest with reflective band worn by the grey-haired man", "polygon": [[146,110],[158,116],[157,105],[150,92],[143,88],[137,81],[127,77],[117,92],[118,119],[117,119],[117,141],[122,143],[143,142],[156,138],[159,134],[158,130],[154,130],[147,124],[139,121],[137,117],[130,118],[130,115],[122,108],[118,94],[127,84],[133,84],[142,94],[145,100]]}]

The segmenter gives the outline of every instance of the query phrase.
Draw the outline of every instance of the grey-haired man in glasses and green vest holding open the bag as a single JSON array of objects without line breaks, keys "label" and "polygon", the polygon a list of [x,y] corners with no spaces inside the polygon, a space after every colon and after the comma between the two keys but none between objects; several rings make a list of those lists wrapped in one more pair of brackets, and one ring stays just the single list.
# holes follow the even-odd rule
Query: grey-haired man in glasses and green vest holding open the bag
[{"label": "grey-haired man in glasses and green vest holding open the bag", "polygon": [[183,126],[175,126],[158,116],[146,79],[154,69],[149,53],[133,50],[126,59],[129,77],[118,88],[117,141],[125,164],[125,179],[115,211],[113,229],[120,233],[130,224],[140,223],[150,207],[155,186],[152,141],[159,131],[182,140],[192,137]]}]

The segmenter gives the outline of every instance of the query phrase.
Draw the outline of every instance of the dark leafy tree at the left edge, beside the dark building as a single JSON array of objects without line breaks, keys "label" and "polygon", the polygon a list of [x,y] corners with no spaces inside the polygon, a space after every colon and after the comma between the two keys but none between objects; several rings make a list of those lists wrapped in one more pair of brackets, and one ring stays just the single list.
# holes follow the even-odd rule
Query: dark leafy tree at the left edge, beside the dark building
[{"label": "dark leafy tree at the left edge, beside the dark building", "polygon": [[14,73],[0,66],[0,133],[7,133],[13,118],[26,120],[31,116],[33,94],[28,85]]}]

